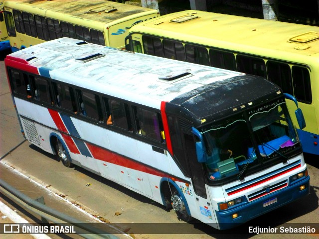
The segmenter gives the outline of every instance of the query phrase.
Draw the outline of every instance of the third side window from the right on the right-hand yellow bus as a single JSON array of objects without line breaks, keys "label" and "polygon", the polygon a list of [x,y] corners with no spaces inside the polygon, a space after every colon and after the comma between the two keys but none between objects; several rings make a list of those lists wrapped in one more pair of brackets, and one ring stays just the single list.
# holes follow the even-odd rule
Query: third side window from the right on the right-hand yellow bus
[{"label": "third side window from the right on the right-hand yellow bus", "polygon": [[263,59],[237,55],[237,69],[239,72],[260,76],[267,79],[266,64]]}]

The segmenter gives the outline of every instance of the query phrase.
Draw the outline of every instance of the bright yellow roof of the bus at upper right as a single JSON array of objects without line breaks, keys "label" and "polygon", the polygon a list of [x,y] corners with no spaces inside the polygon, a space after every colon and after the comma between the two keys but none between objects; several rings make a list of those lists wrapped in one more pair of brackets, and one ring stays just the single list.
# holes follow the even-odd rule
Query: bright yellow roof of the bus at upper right
[{"label": "bright yellow roof of the bus at upper right", "polygon": [[[193,15],[193,17],[185,17]],[[205,46],[256,55],[282,52],[299,56],[319,52],[319,27],[249,18],[198,10],[186,10],[143,22],[130,32],[194,42]],[[243,49],[243,50],[241,50]],[[263,54],[265,53],[265,54]],[[291,55],[287,54],[288,60]]]}]

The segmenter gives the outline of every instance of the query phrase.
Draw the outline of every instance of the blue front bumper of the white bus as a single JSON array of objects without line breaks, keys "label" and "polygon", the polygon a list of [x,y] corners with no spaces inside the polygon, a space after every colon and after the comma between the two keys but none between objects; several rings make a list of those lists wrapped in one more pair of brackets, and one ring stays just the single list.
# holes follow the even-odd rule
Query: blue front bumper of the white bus
[{"label": "blue front bumper of the white bus", "polygon": [[[300,186],[305,185],[305,189],[300,190]],[[297,199],[300,199],[309,194],[310,176],[305,177],[303,180],[296,184],[283,188],[279,192],[275,192],[266,197],[256,199],[255,201],[243,204],[236,208],[228,209],[225,211],[215,211],[217,222],[220,230],[226,230],[237,227],[247,221],[270,212],[276,208],[282,207]],[[277,202],[264,207],[264,202],[277,198]],[[232,215],[238,214],[238,217],[233,219]]]}]

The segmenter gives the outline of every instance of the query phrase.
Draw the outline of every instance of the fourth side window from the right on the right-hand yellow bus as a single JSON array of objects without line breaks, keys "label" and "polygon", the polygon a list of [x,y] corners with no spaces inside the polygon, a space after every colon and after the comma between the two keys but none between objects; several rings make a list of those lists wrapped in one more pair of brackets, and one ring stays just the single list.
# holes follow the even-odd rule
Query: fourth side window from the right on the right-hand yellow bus
[{"label": "fourth side window from the right on the right-hand yellow bus", "polygon": [[236,60],[233,53],[209,49],[210,66],[237,71]]}]

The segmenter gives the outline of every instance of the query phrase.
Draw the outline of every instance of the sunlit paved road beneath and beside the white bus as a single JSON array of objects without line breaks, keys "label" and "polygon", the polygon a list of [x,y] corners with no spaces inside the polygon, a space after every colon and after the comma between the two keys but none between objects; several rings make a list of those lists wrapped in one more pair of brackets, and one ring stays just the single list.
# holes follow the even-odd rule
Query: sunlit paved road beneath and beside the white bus
[{"label": "sunlit paved road beneath and beside the white bus", "polygon": [[[274,237],[274,235],[269,234],[247,234],[249,223],[224,232],[204,224],[179,222],[173,210],[167,212],[160,204],[142,195],[79,167],[64,167],[52,155],[25,142],[21,136],[3,65],[3,61],[0,60],[0,157],[2,163],[14,167],[47,189],[64,194],[64,198],[83,206],[90,214],[100,216],[107,222],[122,225],[126,223],[151,223],[148,227],[156,225],[162,232],[162,234],[134,232],[134,224],[131,224],[132,228],[128,233],[136,239],[246,239],[252,237],[271,239]],[[7,154],[8,152],[10,153]],[[308,155],[307,161],[311,175],[310,195],[298,202],[258,217],[253,221],[254,224],[262,226],[272,222],[273,225],[279,226],[285,223],[310,225],[319,222],[319,167],[318,163],[314,163],[319,162],[319,159]],[[7,180],[14,181],[15,178]],[[89,186],[87,186],[88,184]],[[32,191],[32,189],[29,190]],[[69,207],[64,206],[60,210],[68,211]],[[184,234],[180,233],[180,228],[184,230]],[[171,233],[172,229],[179,230],[179,234],[165,234],[167,231]],[[285,234],[276,235],[276,238],[279,239],[290,237],[290,235]],[[319,237],[318,235],[298,235],[298,238],[314,239]]]}]

